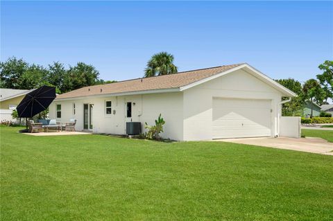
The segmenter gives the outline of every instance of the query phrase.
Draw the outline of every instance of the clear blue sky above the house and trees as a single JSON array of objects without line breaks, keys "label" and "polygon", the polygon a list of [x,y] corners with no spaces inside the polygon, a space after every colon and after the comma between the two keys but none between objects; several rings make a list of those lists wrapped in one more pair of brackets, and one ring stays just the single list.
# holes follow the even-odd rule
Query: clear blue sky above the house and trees
[{"label": "clear blue sky above the house and trees", "polygon": [[315,78],[333,58],[333,3],[1,1],[1,61],[86,62],[126,80],[160,51],[179,71],[248,62],[271,78]]}]

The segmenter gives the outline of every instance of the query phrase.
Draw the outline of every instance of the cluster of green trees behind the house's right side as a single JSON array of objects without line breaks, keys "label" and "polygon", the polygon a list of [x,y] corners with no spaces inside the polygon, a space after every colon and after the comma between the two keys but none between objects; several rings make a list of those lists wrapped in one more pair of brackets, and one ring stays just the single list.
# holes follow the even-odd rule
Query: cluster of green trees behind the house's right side
[{"label": "cluster of green trees behind the house's right side", "polygon": [[[282,106],[283,116],[302,116],[302,110],[307,101],[311,103],[311,117],[314,104],[325,105],[329,98],[333,99],[333,61],[326,60],[318,66],[322,73],[301,84],[293,78],[276,80],[293,91],[298,96]],[[284,98],[287,99],[287,98]]]}]

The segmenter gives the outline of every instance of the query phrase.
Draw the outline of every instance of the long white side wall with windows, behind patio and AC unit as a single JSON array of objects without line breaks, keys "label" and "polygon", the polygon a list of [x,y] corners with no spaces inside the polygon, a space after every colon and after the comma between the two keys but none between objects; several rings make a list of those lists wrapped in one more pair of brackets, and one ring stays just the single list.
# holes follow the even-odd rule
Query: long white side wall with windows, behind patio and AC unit
[{"label": "long white side wall with windows, behind patio and AC unit", "polygon": [[[112,114],[106,114],[105,102],[111,101]],[[132,117],[126,118],[126,103],[133,103]],[[76,114],[73,113],[73,103]],[[83,130],[83,104],[94,104],[92,114],[93,132],[107,134],[126,134],[126,121],[155,124],[155,119],[162,114],[166,124],[164,138],[182,140],[182,92],[169,94],[144,94],[137,96],[110,96],[103,98],[89,98],[77,100],[54,100],[50,105],[49,118],[56,118],[56,105],[61,104],[62,117],[57,121],[65,122],[75,118],[76,130]],[[135,103],[135,105],[134,105]],[[115,114],[113,112],[115,111]]]}]

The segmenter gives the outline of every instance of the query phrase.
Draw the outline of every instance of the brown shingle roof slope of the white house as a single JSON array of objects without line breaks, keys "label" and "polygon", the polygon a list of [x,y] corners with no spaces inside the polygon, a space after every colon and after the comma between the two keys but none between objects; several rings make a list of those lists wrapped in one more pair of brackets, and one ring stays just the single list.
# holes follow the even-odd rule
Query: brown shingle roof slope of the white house
[{"label": "brown shingle roof slope of the white house", "polygon": [[217,73],[228,71],[241,64],[223,65],[207,69],[198,69],[194,71],[184,71],[165,76],[156,76],[151,78],[137,78],[133,80],[124,80],[106,85],[94,85],[83,87],[65,94],[60,94],[56,99],[76,98],[81,96],[92,96],[101,94],[117,94],[134,91],[146,91],[154,89],[172,89],[179,88],[214,76]]}]

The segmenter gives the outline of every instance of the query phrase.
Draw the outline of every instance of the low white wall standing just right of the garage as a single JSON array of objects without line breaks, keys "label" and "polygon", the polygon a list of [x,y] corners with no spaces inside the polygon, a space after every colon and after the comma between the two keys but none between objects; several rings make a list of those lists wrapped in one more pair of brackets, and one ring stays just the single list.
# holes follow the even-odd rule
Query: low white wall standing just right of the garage
[{"label": "low white wall standing just right of the garage", "polygon": [[300,138],[300,116],[282,116],[280,136]]}]

